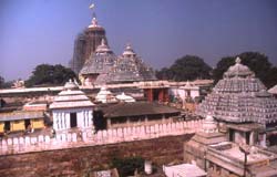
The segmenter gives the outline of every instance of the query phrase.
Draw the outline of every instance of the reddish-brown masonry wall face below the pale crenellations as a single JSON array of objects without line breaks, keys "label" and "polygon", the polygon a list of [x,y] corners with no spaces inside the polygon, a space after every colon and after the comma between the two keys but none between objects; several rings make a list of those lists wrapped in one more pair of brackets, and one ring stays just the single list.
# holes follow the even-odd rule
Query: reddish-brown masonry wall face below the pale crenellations
[{"label": "reddish-brown masonry wall face below the pale crenellations", "polygon": [[[192,134],[116,144],[0,156],[1,177],[84,177],[107,169],[115,157],[142,157],[160,166],[183,159]],[[90,175],[89,175],[90,174]]]}]

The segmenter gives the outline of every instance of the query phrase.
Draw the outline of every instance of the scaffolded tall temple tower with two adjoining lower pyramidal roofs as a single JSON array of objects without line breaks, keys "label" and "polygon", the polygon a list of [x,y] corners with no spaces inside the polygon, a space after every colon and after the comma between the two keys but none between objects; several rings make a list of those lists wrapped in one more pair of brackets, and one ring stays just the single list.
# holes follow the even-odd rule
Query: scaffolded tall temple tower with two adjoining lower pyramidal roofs
[{"label": "scaffolded tall temple tower with two adjoining lower pyramidal roofs", "polygon": [[130,44],[122,55],[116,58],[107,44],[105,30],[99,25],[95,13],[92,23],[75,40],[70,65],[80,74],[82,85],[156,80],[154,71],[144,64]]}]

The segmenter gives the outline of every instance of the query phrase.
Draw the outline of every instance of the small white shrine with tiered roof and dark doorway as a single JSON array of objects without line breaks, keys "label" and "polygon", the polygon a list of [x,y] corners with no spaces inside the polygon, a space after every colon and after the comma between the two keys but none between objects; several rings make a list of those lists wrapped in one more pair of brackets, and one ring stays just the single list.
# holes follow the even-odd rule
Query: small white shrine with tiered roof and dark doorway
[{"label": "small white shrine with tiered roof and dark doorway", "polygon": [[68,131],[75,127],[92,128],[93,106],[94,104],[74,82],[66,82],[64,90],[54,97],[54,102],[50,105],[54,131]]}]

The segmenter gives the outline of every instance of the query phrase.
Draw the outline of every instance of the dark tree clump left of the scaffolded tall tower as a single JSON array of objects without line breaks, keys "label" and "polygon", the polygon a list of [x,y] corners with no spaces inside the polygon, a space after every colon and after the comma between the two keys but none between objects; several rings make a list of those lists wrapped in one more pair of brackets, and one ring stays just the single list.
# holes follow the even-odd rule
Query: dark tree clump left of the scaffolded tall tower
[{"label": "dark tree clump left of the scaffolded tall tower", "polygon": [[34,69],[25,85],[62,85],[70,79],[76,79],[75,73],[71,69],[61,64],[40,64]]}]

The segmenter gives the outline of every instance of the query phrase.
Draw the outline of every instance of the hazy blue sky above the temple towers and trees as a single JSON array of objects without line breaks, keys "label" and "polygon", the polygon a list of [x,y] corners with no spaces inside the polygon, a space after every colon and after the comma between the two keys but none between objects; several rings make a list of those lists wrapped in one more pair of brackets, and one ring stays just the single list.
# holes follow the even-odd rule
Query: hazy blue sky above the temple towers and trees
[{"label": "hazy blue sky above the temple towers and trees", "polygon": [[277,64],[275,0],[0,0],[0,75],[28,79],[38,64],[68,65],[92,2],[112,50],[121,54],[130,42],[154,69],[186,54],[214,66],[245,51]]}]

